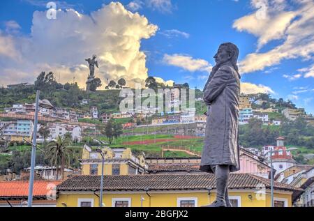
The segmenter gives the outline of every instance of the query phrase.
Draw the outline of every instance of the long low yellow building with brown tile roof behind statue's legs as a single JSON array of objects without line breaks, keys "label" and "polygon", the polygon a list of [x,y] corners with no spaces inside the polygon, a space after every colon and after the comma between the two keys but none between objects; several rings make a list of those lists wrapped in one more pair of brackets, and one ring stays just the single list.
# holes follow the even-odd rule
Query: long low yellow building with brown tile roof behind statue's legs
[{"label": "long low yellow building with brown tile roof behind statue's legs", "polygon": [[[234,207],[269,207],[269,180],[252,174],[230,175]],[[105,207],[199,207],[216,199],[213,174],[105,176]],[[290,207],[302,190],[275,182],[275,206]],[[100,176],[75,176],[57,186],[57,206],[99,206]]]}]

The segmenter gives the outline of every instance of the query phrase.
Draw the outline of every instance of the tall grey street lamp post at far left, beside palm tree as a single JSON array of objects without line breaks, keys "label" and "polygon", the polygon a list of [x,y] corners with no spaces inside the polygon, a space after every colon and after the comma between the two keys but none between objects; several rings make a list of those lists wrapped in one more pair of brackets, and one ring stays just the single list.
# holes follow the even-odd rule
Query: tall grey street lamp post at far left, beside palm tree
[{"label": "tall grey street lamp post at far left, beside palm tree", "polygon": [[34,121],[33,121],[33,142],[32,142],[32,147],[31,147],[31,172],[29,174],[29,198],[27,200],[28,207],[31,207],[33,204],[33,177],[35,174],[35,162],[36,162],[38,108],[39,106],[47,108],[47,109],[54,108],[48,100],[39,100],[39,93],[40,91],[36,91],[35,116],[34,116]]}]

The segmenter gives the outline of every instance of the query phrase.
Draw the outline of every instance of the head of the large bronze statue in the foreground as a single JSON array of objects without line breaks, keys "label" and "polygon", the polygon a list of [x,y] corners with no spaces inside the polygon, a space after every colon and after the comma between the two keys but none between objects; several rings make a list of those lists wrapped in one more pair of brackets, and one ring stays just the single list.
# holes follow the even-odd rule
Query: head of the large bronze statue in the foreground
[{"label": "head of the large bronze statue in the foreground", "polygon": [[218,52],[215,54],[214,59],[217,65],[231,61],[232,66],[237,70],[237,61],[239,57],[239,49],[237,45],[232,43],[223,43],[219,46]]}]

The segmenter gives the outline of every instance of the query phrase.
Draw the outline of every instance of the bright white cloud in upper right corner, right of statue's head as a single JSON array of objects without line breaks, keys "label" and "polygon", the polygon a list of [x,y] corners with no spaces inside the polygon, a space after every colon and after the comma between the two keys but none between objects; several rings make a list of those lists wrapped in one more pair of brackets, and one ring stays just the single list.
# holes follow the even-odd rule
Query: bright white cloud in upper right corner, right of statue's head
[{"label": "bright white cloud in upper right corner, right of statue's head", "polygon": [[[251,3],[259,9],[234,22],[235,29],[253,33],[258,38],[257,52],[248,54],[239,63],[241,73],[264,70],[283,59],[313,59],[314,1],[294,1],[295,10],[290,10],[287,1],[281,0],[252,0]],[[281,40],[281,43],[259,53],[271,40]]]}]

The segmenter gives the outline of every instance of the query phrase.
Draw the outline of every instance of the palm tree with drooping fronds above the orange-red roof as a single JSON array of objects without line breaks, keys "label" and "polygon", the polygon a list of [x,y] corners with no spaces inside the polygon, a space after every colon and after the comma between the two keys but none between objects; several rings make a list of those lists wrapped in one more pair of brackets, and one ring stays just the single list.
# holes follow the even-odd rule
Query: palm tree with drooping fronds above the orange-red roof
[{"label": "palm tree with drooping fronds above the orange-red roof", "polygon": [[70,153],[72,151],[68,146],[71,144],[71,139],[68,136],[57,137],[56,141],[52,141],[47,145],[46,158],[50,159],[52,165],[57,169],[57,180],[59,165],[61,165],[61,179],[64,179],[64,167],[70,162]]}]

